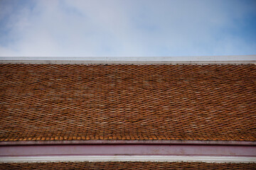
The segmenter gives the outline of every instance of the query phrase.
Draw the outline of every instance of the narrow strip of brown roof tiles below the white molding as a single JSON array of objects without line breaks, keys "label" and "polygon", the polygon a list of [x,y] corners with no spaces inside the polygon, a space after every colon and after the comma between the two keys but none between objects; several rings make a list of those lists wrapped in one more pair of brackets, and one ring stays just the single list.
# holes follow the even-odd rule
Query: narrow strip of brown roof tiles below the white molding
[{"label": "narrow strip of brown roof tiles below the white molding", "polygon": [[0,169],[256,169],[256,164],[203,162],[51,162],[2,163]]}]

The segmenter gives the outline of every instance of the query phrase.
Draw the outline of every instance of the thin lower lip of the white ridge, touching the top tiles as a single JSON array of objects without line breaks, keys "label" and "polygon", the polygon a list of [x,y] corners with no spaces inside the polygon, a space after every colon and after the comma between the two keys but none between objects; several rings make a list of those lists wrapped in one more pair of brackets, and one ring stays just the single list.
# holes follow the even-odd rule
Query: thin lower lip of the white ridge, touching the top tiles
[{"label": "thin lower lip of the white ridge, touching the top tiles", "polygon": [[0,60],[0,64],[256,64],[244,61],[89,61],[89,60]]}]

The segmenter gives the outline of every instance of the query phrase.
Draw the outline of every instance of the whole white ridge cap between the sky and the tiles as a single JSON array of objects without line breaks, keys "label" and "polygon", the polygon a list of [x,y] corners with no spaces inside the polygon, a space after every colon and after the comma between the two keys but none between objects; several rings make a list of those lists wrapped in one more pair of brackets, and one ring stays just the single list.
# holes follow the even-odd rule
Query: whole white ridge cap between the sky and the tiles
[{"label": "whole white ridge cap between the sky and the tiles", "polygon": [[181,57],[0,57],[12,64],[251,64],[256,55]]}]

